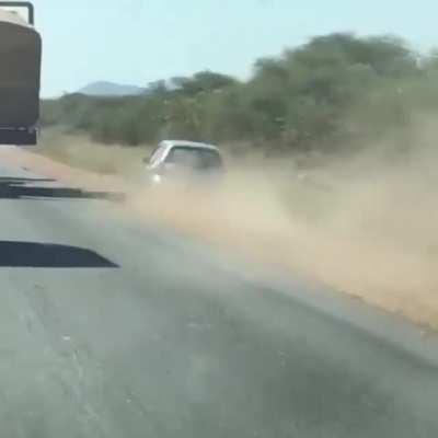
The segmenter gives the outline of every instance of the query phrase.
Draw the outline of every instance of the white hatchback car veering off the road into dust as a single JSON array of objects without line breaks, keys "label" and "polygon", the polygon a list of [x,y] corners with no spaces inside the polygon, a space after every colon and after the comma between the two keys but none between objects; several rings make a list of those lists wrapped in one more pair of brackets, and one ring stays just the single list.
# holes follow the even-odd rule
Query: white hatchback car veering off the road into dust
[{"label": "white hatchback car veering off the road into dust", "polygon": [[150,159],[143,161],[153,184],[216,180],[224,171],[216,146],[185,140],[161,141]]}]

